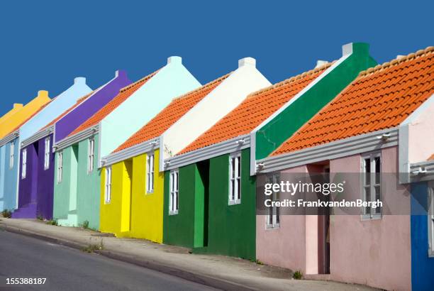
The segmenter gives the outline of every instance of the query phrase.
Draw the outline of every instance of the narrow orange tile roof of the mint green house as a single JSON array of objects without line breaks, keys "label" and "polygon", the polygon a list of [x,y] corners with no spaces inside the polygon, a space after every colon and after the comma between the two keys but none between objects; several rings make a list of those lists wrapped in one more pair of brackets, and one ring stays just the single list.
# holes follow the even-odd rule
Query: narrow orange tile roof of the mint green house
[{"label": "narrow orange tile roof of the mint green house", "polygon": [[74,134],[79,133],[80,131],[84,131],[85,129],[99,123],[99,121],[104,119],[104,117],[106,117],[107,115],[111,114],[111,112],[119,105],[121,105],[123,101],[126,101],[126,99],[128,99],[134,92],[136,92],[140,87],[142,87],[146,82],[148,82],[150,78],[154,77],[157,72],[158,70],[146,77],[143,77],[137,82],[134,82],[133,84],[130,84],[127,87],[121,89],[119,91],[119,94],[113,99],[111,99],[111,101],[107,103],[106,106],[99,109],[99,111],[96,111],[94,115],[89,117],[89,119],[87,119],[87,121],[84,121],[84,123],[82,123],[79,127],[75,128],[74,131],[72,131],[72,133],[69,133],[68,136],[73,136]]}]

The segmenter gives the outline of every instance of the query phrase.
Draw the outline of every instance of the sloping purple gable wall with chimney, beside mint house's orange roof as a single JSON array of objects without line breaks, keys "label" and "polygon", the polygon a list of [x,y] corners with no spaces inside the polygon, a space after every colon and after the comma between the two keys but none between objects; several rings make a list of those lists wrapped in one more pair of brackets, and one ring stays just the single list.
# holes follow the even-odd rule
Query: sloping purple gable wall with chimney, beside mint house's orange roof
[{"label": "sloping purple gable wall with chimney, beside mint house's orange roof", "polygon": [[75,128],[94,115],[96,111],[99,111],[101,107],[109,103],[119,93],[119,89],[131,83],[124,70],[116,71],[116,76],[111,82],[94,93],[91,98],[63,116],[60,121],[57,121],[55,124],[56,143],[68,136],[69,133],[72,133]]}]

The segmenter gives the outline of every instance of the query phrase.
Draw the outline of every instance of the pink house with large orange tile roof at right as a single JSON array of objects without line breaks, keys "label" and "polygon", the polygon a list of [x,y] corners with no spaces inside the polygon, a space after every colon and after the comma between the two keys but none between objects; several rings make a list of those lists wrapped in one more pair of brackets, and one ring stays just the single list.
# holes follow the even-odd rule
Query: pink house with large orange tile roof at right
[{"label": "pink house with large orange tile roof at right", "polygon": [[434,152],[433,71],[430,47],[361,72],[269,157],[257,160],[258,175],[330,172],[332,180],[359,173],[345,194],[386,205],[350,215],[339,215],[340,209],[284,215],[282,207],[257,215],[258,260],[301,270],[307,278],[412,289],[410,165]]}]

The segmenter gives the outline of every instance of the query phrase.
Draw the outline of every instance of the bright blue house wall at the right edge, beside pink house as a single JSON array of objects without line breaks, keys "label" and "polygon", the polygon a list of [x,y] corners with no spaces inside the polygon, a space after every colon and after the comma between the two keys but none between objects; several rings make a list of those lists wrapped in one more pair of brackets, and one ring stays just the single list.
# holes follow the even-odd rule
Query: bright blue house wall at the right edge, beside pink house
[{"label": "bright blue house wall at the right edge, beside pink house", "polygon": [[[431,186],[432,187],[432,186]],[[434,257],[428,256],[428,183],[411,185],[411,288],[432,290]],[[421,215],[425,213],[425,215]],[[415,215],[416,214],[416,215]]]}]

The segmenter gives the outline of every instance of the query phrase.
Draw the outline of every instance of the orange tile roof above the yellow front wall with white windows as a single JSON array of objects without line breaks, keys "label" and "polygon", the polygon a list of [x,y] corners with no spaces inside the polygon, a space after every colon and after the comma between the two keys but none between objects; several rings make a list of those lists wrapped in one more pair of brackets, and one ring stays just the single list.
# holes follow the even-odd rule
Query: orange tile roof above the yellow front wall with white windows
[{"label": "orange tile roof above the yellow front wall with white windows", "polygon": [[199,89],[195,89],[187,94],[177,97],[170,102],[169,105],[162,109],[159,114],[157,114],[153,119],[151,119],[145,126],[140,128],[136,133],[133,134],[128,140],[121,146],[116,148],[113,153],[120,150],[130,148],[144,141],[149,141],[151,138],[156,138],[161,136],[167,128],[172,126],[177,122],[184,114],[187,113],[194,105],[199,101],[204,99],[213,89],[215,89],[224,79],[229,77],[230,73],[215,79],[208,84],[205,84]]}]

